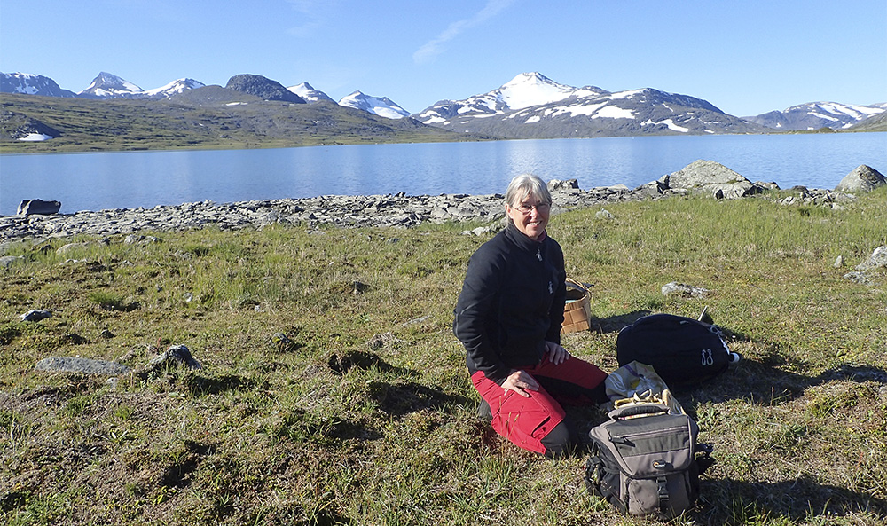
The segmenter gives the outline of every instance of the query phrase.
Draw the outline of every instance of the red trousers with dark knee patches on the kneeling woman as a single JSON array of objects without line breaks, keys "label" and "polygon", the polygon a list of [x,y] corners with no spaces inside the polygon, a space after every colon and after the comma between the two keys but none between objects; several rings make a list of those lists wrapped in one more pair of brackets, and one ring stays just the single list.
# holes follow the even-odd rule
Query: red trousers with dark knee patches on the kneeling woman
[{"label": "red trousers with dark knee patches on the kneeling woman", "polygon": [[548,455],[553,449],[566,446],[559,444],[564,442],[560,439],[554,444],[551,440],[546,441],[546,437],[564,422],[566,414],[561,404],[607,401],[602,389],[607,373],[577,357],[571,356],[560,365],[554,365],[546,353],[537,365],[522,367],[522,370],[539,383],[538,391],[527,391],[529,398],[488,380],[480,371],[471,376],[471,382],[483,400],[490,404],[492,428],[525,450]]}]

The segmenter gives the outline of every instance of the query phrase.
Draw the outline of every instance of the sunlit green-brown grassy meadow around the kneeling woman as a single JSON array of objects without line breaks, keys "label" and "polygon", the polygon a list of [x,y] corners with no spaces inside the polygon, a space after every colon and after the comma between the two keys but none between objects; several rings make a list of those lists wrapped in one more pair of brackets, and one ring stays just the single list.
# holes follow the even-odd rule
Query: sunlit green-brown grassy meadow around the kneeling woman
[{"label": "sunlit green-brown grassy meadow around the kneeling woman", "polygon": [[[616,367],[638,316],[710,316],[741,363],[678,393],[714,444],[695,524],[887,521],[887,189],[842,209],[670,198],[554,216],[593,329],[564,346]],[[475,418],[452,308],[477,224],[144,232],[160,243],[15,243],[0,269],[0,522],[646,524]],[[834,263],[842,256],[845,266]],[[671,281],[710,290],[663,296]],[[31,309],[51,318],[20,321]],[[283,334],[286,338],[280,338]],[[146,372],[184,344],[202,369]],[[116,360],[117,381],[35,370]],[[569,409],[584,430],[596,409]]]}]

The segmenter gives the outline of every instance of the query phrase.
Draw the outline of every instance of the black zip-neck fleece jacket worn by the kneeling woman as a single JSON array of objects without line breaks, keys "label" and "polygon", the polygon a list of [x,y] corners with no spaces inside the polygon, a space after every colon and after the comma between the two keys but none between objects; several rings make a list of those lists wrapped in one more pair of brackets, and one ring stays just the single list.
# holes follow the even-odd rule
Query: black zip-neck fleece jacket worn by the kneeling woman
[{"label": "black zip-neck fleece jacket worn by the kneeling woman", "polygon": [[538,242],[509,224],[479,247],[453,321],[469,373],[502,385],[513,369],[539,363],[546,340],[560,343],[565,279],[561,246],[547,235]]}]

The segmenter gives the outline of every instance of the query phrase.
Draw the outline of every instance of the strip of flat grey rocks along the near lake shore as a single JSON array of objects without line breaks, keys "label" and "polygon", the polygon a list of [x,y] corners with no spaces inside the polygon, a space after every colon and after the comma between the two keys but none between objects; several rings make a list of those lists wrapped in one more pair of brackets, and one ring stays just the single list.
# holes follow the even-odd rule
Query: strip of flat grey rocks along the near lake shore
[{"label": "strip of flat grey rocks along the near lake shore", "polygon": [[[588,208],[611,202],[660,199],[685,195],[687,189],[664,189],[651,181],[631,189],[624,184],[589,190],[575,187],[575,180],[553,181],[553,213]],[[779,190],[775,184],[757,183],[754,193]],[[763,185],[763,186],[762,186]],[[796,187],[796,195],[781,198],[784,204],[825,204],[844,199],[831,190]],[[0,216],[0,243],[19,239],[71,238],[77,235],[106,237],[137,232],[167,232],[203,227],[220,230],[263,228],[272,224],[303,225],[311,229],[335,227],[398,227],[420,224],[494,224],[505,216],[502,194],[440,194],[410,196],[326,195],[301,199],[248,200],[216,203],[204,200],[153,208],[84,210],[74,214]]]}]

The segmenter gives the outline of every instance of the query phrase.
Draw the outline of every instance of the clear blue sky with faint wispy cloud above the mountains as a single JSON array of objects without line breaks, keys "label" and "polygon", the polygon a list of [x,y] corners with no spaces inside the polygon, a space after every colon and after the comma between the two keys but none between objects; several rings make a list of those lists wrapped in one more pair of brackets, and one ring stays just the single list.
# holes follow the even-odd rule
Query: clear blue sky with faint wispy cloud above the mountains
[{"label": "clear blue sky with faint wispy cloud above the mountains", "polygon": [[0,71],[144,90],[264,75],[410,112],[523,72],[728,114],[887,102],[884,0],[0,0]]}]

